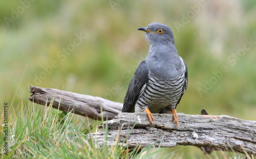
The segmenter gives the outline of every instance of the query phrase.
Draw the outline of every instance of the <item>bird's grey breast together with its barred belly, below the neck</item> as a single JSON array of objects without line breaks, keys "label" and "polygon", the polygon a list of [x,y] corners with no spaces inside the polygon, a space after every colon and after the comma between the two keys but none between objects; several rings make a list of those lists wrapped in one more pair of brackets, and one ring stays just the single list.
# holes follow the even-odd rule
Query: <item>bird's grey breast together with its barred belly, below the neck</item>
[{"label": "bird's grey breast together with its barred belly, below the neck", "polygon": [[182,94],[185,64],[175,52],[155,50],[145,59],[148,82],[140,92],[136,108],[143,110],[143,105],[149,105],[151,112],[159,113],[163,108],[175,108]]}]

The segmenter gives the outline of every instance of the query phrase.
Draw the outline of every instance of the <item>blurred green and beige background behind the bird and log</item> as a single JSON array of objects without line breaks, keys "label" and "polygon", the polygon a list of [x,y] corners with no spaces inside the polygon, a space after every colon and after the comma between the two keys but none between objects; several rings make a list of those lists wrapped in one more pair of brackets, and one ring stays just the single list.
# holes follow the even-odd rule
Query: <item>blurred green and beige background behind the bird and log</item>
[{"label": "blurred green and beige background behind the bird and log", "polygon": [[137,29],[160,22],[188,68],[177,112],[256,120],[255,17],[253,0],[2,1],[1,103],[26,103],[29,86],[123,102],[149,47]]}]

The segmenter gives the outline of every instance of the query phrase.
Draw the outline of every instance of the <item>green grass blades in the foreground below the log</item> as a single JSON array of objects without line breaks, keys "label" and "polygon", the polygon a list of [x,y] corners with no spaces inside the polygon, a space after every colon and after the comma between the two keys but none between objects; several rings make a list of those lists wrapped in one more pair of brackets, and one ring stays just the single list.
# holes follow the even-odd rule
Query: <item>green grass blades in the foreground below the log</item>
[{"label": "green grass blades in the foreground below the log", "polygon": [[[38,107],[43,107],[42,111]],[[130,150],[124,146],[126,141],[118,145],[118,135],[114,144],[107,146],[108,125],[105,127],[104,142],[99,146],[90,133],[99,131],[97,126],[102,121],[83,120],[72,113],[55,110],[51,105],[46,107],[21,101],[14,112],[15,115],[8,121],[9,152],[6,155],[2,151],[1,158],[191,158],[188,153],[177,154],[177,150],[153,148],[154,144],[137,153],[139,147]],[[3,135],[1,130],[0,145],[5,142]],[[214,151],[204,157],[244,156],[235,152]]]}]

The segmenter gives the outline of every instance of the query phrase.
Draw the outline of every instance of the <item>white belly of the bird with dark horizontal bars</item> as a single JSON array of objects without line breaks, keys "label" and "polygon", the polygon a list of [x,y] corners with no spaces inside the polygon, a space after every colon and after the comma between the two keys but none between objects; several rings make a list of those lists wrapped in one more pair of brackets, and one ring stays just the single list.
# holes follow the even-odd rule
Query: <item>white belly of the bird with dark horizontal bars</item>
[{"label": "white belly of the bird with dark horizontal bars", "polygon": [[136,101],[135,112],[143,112],[148,107],[151,113],[169,113],[170,109],[176,108],[184,82],[184,73],[165,81],[149,74],[148,82],[141,89]]}]

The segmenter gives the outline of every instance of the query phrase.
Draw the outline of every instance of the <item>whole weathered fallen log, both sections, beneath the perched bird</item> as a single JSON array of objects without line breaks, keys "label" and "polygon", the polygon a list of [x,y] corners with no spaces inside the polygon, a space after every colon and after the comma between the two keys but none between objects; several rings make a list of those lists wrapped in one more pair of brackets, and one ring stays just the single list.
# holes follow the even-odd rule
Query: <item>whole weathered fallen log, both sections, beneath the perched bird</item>
[{"label": "whole weathered fallen log, both sections, beneath the perched bird", "polygon": [[[126,138],[128,147],[154,144],[160,147],[194,145],[206,153],[212,150],[233,150],[256,154],[256,121],[242,120],[226,115],[185,115],[178,113],[180,126],[172,123],[172,114],[153,114],[151,127],[146,113],[120,113],[122,103],[100,97],[82,95],[51,88],[30,87],[29,100],[52,105],[53,108],[72,112],[92,119],[101,119],[108,124],[108,145],[119,137],[119,144]],[[102,114],[101,114],[102,111]],[[119,113],[118,116],[116,116]],[[207,114],[206,112],[203,114]],[[116,117],[115,117],[116,116]],[[135,127],[131,130],[131,127]],[[122,127],[121,130],[119,128]],[[131,132],[130,132],[131,130]],[[104,142],[105,130],[90,134],[99,145]],[[130,134],[127,137],[127,134]]]}]

